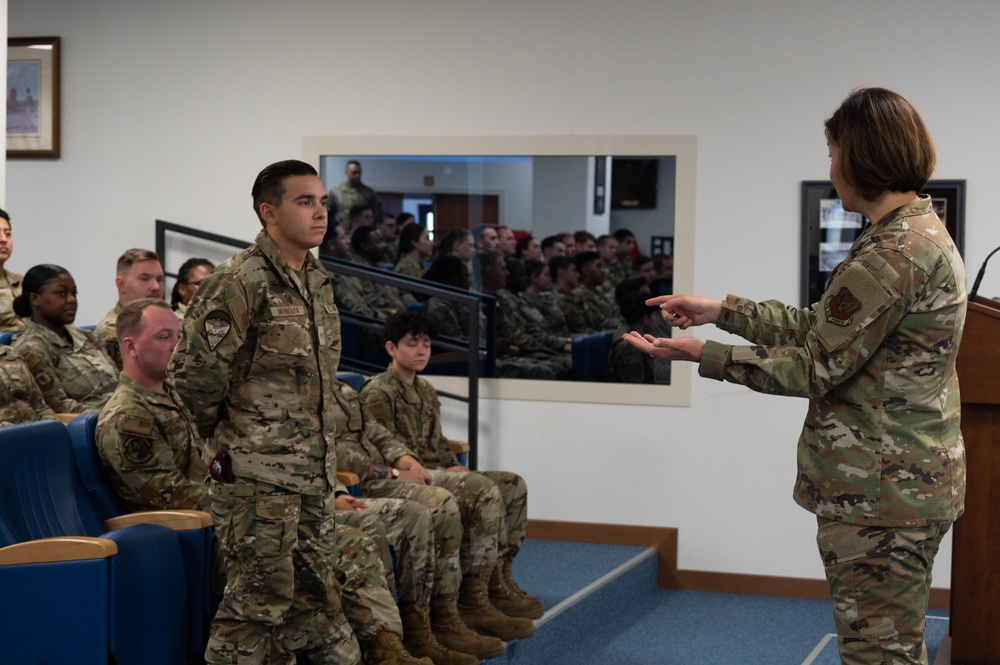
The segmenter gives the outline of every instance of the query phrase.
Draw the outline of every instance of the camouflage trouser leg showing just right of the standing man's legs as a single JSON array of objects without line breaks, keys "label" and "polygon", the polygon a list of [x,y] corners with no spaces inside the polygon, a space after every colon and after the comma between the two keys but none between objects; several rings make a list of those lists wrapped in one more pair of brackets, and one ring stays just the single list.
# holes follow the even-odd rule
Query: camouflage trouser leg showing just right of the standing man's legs
[{"label": "camouflage trouser leg showing just right of the standing man's legs", "polygon": [[386,584],[385,567],[374,538],[361,529],[338,524],[333,568],[340,580],[344,614],[362,649],[381,632],[403,636],[399,609]]}]

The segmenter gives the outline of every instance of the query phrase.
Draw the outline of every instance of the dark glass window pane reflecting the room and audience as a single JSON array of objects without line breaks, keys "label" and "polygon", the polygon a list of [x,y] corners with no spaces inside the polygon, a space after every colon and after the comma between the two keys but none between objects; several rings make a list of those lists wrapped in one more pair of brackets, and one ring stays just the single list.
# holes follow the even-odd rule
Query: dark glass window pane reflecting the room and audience
[{"label": "dark glass window pane reflecting the room and audience", "polygon": [[[670,383],[669,363],[653,364],[641,354],[629,357],[628,350],[634,349],[618,348],[613,342],[630,329],[670,334],[644,301],[647,293],[672,291],[676,172],[677,158],[672,155],[355,154],[320,159],[321,177],[333,199],[331,212],[348,235],[357,224],[350,218],[350,208],[363,203],[370,188],[377,199],[371,205],[377,213],[372,216],[374,224],[380,223],[383,214],[412,215],[437,246],[434,257],[460,257],[468,269],[470,288],[496,297],[498,376],[575,381]],[[621,243],[614,239],[616,232]],[[395,260],[394,243],[400,229],[391,233],[395,237],[383,238],[389,263]],[[561,248],[550,243],[544,262],[529,262],[532,274],[526,274],[524,261],[515,258],[517,247],[539,251],[545,239],[559,234],[568,235]],[[584,257],[589,260],[577,266],[576,255],[582,257],[581,250],[604,236],[622,245],[620,251],[594,246],[597,258]],[[539,247],[534,248],[528,238],[539,241]],[[470,256],[469,250],[478,253]],[[557,254],[569,255],[572,268],[565,261],[556,262],[562,265],[561,272],[553,272],[550,260]],[[662,254],[655,265],[654,254]],[[633,266],[640,256],[645,260]],[[425,259],[425,267],[431,267],[430,258]],[[577,274],[569,280],[571,285],[565,279],[554,283],[554,277],[573,270]],[[537,283],[532,285],[533,279],[546,281],[540,275],[543,272],[547,291]],[[595,277],[598,274],[609,276]],[[627,288],[619,289],[616,301],[620,285]],[[572,295],[570,289],[575,289]],[[441,302],[428,303],[419,297],[409,302],[429,313],[445,309]],[[553,310],[570,313],[570,318],[580,318],[577,315],[586,310],[592,323],[567,330]],[[450,312],[455,320],[468,316],[468,312],[462,316]],[[443,371],[463,370],[460,363],[441,365]],[[436,369],[432,366],[430,371]]]}]

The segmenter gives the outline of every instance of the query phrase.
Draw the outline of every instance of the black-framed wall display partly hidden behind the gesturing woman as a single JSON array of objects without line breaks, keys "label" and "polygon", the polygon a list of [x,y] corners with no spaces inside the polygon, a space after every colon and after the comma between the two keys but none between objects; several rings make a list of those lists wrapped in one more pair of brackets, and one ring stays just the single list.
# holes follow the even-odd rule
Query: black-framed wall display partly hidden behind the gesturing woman
[{"label": "black-framed wall display partly hidden behind the gesturing woman", "polygon": [[[931,180],[924,187],[934,211],[951,234],[959,253],[965,247],[965,181]],[[847,212],[829,180],[802,182],[802,306],[819,300],[830,278],[868,220]]]}]

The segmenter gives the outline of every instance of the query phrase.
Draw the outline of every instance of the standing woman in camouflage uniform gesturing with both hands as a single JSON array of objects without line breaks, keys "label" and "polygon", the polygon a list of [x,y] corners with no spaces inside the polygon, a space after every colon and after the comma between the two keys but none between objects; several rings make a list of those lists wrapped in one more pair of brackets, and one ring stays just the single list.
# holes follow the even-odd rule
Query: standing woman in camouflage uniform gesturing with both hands
[{"label": "standing woman in camouflage uniform gesturing with both hands", "polygon": [[682,329],[714,323],[754,346],[625,339],[758,392],[805,397],[794,499],[817,543],[844,663],[926,663],[924,615],[941,539],[962,514],[955,362],[967,305],[955,243],[918,192],[935,151],[920,115],[881,88],[826,121],[830,180],[861,232],[811,309],[727,296],[652,298]]}]

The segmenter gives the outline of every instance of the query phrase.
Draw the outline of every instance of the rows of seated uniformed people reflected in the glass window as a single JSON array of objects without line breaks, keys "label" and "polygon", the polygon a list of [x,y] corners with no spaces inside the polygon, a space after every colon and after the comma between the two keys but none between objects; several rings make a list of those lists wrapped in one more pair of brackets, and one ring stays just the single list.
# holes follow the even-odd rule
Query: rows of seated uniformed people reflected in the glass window
[{"label": "rows of seated uniformed people reflected in the glass window", "polygon": [[[483,224],[432,237],[409,213],[397,218],[383,213],[383,219],[383,224],[357,227],[356,222],[331,224],[321,255],[494,296],[500,377],[573,379],[573,338],[626,325],[620,285],[634,290],[641,285],[647,297],[672,291],[672,258],[639,254],[635,235],[627,229],[600,237],[584,230],[561,232],[539,241],[525,233],[518,238],[506,226]],[[345,233],[350,234],[349,245]],[[394,258],[389,246],[395,248]],[[467,341],[467,305],[347,275],[334,279],[342,310],[384,321],[404,309],[422,308],[443,336]],[[480,317],[485,323],[482,312]],[[608,354],[609,366],[621,361],[622,351]],[[605,374],[619,382],[667,380],[669,363],[653,364],[664,367],[654,373],[618,368]]]}]

